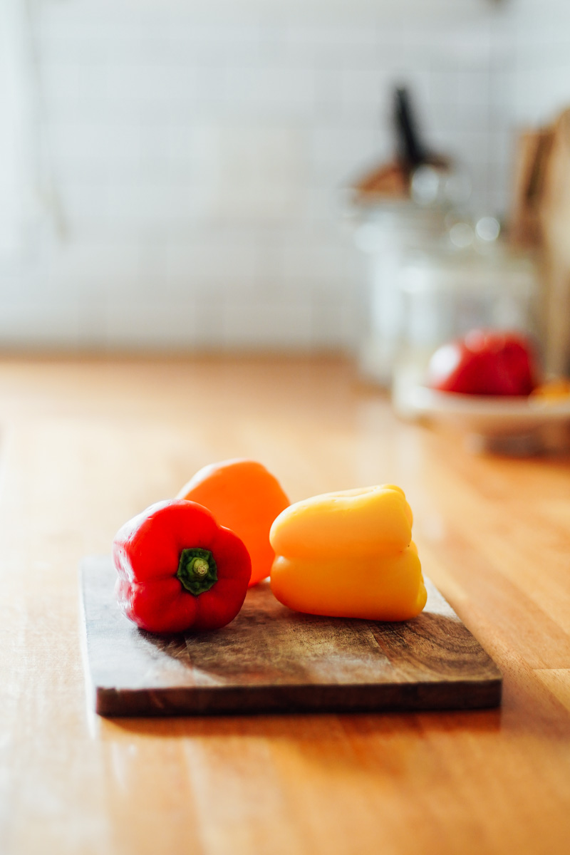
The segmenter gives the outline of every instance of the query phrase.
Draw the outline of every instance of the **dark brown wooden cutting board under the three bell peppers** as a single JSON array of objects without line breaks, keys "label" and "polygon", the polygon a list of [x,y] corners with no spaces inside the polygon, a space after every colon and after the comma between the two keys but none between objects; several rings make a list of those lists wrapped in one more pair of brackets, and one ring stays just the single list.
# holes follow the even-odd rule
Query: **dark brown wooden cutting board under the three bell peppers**
[{"label": "dark brown wooden cutting board under the three bell peppers", "polygon": [[267,582],[228,626],[153,635],[115,604],[110,557],[81,567],[85,659],[102,716],[448,710],[497,706],[502,676],[427,581],[403,623],[303,615]]}]

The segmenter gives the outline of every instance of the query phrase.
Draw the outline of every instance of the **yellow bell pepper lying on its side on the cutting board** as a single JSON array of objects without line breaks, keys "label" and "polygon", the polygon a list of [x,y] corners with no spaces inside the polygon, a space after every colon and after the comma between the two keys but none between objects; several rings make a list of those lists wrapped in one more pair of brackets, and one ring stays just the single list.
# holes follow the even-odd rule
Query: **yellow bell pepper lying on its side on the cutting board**
[{"label": "yellow bell pepper lying on its side on the cutting board", "polygon": [[314,615],[405,621],[426,604],[412,511],[391,484],[325,493],[273,522],[271,589]]}]

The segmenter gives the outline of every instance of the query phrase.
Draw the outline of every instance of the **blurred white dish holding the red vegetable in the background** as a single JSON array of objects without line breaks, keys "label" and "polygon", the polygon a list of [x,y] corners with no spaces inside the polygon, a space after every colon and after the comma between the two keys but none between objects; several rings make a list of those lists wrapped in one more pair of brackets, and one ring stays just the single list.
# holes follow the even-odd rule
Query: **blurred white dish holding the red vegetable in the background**
[{"label": "blurred white dish holding the red vegetable in the background", "polygon": [[538,451],[541,428],[570,422],[570,397],[500,398],[437,392],[414,386],[406,394],[410,415],[445,422],[467,434],[473,448],[511,453]]}]

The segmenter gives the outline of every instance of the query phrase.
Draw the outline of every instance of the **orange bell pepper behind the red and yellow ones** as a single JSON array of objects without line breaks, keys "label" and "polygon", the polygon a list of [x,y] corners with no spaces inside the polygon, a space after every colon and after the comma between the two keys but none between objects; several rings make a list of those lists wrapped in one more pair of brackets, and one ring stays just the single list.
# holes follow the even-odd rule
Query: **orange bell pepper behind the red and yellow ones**
[{"label": "orange bell pepper behind the red and yellow ones", "polygon": [[220,526],[243,540],[251,558],[250,586],[269,575],[274,552],[269,528],[289,504],[279,481],[255,460],[236,458],[204,466],[177,498],[203,504]]}]

